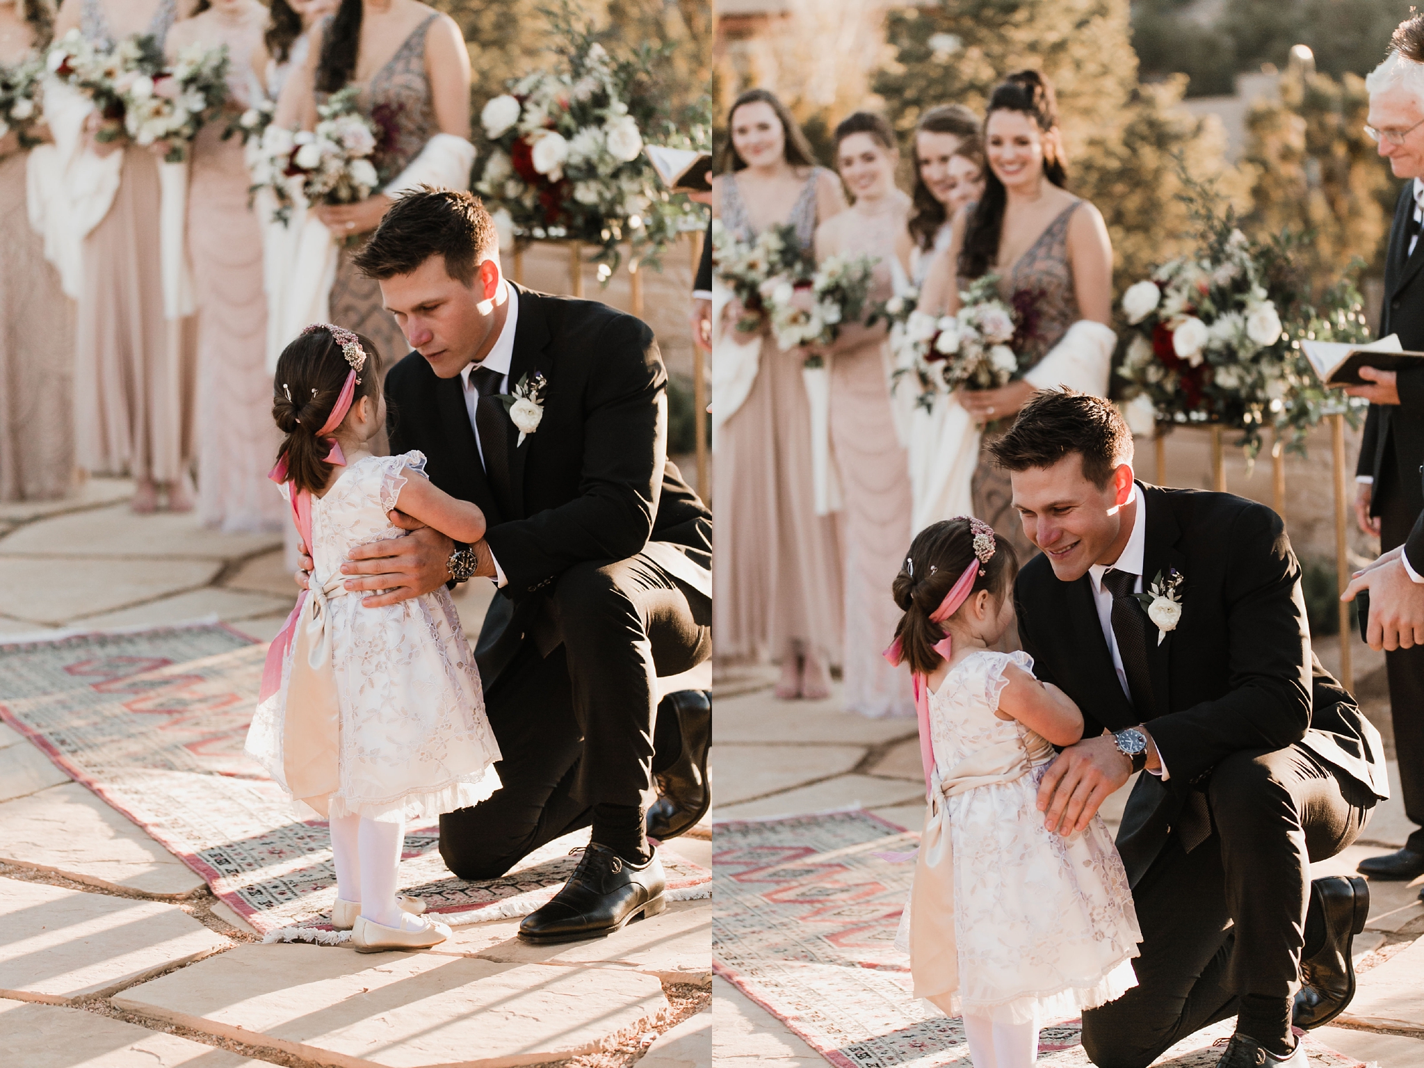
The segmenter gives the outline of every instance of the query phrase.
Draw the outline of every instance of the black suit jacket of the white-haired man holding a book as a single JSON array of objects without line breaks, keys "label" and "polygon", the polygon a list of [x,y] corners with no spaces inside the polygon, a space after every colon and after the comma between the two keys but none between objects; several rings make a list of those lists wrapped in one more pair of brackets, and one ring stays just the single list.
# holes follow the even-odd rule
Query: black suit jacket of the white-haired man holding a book
[{"label": "black suit jacket of the white-haired man holding a book", "polygon": [[[1400,335],[1405,349],[1424,350],[1424,241],[1405,256],[1408,235],[1405,226],[1414,211],[1414,182],[1404,182],[1394,205],[1390,226],[1390,248],[1384,261],[1384,305],[1380,309],[1380,336]],[[1374,478],[1371,513],[1380,514],[1383,503],[1398,491],[1388,477],[1397,470],[1398,486],[1407,494],[1401,504],[1410,515],[1424,510],[1424,488],[1420,464],[1424,464],[1424,367],[1398,372],[1400,403],[1370,404],[1360,440],[1360,461],[1356,474]],[[1393,450],[1393,457],[1390,456]],[[1393,467],[1390,460],[1393,459]],[[1424,550],[1424,545],[1421,545]],[[1410,554],[1410,562],[1424,560],[1424,551]]]}]

